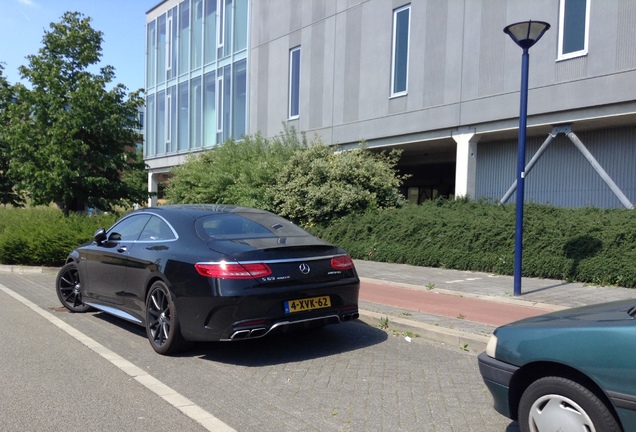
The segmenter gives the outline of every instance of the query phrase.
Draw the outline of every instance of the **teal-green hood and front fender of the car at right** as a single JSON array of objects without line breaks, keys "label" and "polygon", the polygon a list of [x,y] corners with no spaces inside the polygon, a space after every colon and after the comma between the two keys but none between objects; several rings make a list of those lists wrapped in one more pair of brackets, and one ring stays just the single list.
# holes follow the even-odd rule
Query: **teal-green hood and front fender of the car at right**
[{"label": "teal-green hood and front fender of the car at right", "polygon": [[495,330],[496,358],[523,367],[558,363],[603,388],[636,394],[635,300],[573,308],[526,318]]}]

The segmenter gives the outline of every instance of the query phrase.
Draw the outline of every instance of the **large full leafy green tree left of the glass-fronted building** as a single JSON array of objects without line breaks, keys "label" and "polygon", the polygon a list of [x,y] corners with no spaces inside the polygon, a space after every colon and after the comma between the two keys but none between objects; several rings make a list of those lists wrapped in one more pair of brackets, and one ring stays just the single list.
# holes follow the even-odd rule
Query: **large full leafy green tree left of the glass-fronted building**
[{"label": "large full leafy green tree left of the glass-fronted building", "polygon": [[91,19],[67,12],[44,32],[43,47],[20,67],[30,88],[15,86],[9,173],[33,204],[56,202],[65,213],[86,207],[110,210],[143,202],[145,188],[126,182],[145,170],[135,155],[141,90],[122,84],[106,90],[112,66],[91,73],[101,58],[102,32]]}]

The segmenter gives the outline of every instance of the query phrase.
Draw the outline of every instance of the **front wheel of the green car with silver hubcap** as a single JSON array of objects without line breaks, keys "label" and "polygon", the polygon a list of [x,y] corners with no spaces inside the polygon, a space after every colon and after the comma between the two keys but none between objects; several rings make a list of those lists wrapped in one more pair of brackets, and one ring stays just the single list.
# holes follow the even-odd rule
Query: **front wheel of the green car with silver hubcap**
[{"label": "front wheel of the green car with silver hubcap", "polygon": [[522,432],[590,430],[620,432],[605,404],[581,384],[562,377],[545,377],[532,383],[519,402]]}]

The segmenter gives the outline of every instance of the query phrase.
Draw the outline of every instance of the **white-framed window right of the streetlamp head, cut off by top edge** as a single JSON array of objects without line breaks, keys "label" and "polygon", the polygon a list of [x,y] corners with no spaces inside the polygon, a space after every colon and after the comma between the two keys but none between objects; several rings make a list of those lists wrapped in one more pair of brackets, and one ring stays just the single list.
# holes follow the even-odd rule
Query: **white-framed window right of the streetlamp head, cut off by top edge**
[{"label": "white-framed window right of the streetlamp head, cut off by top edge", "polygon": [[590,0],[561,0],[559,60],[587,54]]}]

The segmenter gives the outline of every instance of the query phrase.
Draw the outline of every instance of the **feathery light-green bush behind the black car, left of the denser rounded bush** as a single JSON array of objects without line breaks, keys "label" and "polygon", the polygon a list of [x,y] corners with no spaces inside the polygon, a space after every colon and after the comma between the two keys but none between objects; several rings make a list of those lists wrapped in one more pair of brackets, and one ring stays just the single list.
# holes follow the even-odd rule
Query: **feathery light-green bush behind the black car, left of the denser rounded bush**
[{"label": "feathery light-green bush behind the black car, left of the denser rounded bush", "polygon": [[269,195],[276,176],[294,152],[307,147],[293,129],[267,140],[260,134],[228,140],[190,155],[172,170],[166,198],[171,203],[235,204],[272,210]]}]

